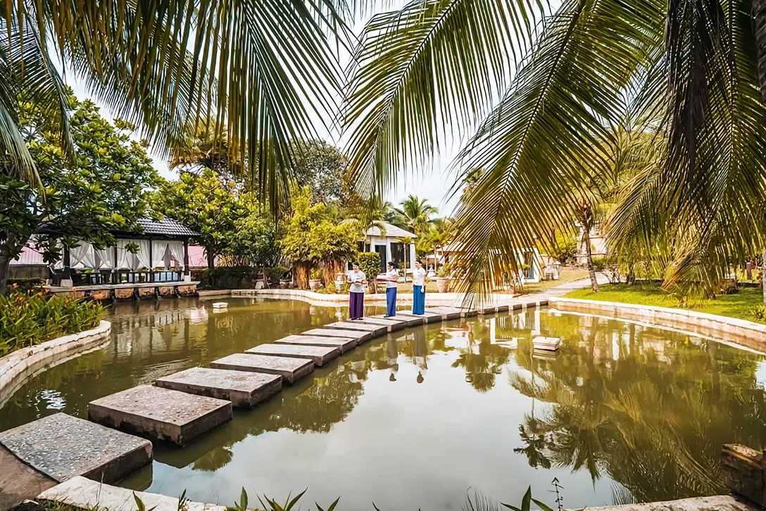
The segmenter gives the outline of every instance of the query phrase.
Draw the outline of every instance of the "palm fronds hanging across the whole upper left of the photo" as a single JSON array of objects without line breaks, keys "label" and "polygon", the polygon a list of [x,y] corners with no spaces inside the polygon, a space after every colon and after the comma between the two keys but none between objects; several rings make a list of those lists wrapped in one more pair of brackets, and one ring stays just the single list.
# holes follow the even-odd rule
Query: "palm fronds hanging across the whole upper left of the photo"
[{"label": "palm fronds hanging across the whole upper left of the photo", "polygon": [[[315,136],[341,90],[336,42],[346,44],[334,0],[18,0],[0,5],[0,156],[6,172],[34,179],[19,133],[21,91],[51,110],[68,138],[63,84],[53,62],[100,103],[142,126],[161,149],[198,119],[228,133],[277,205],[290,139]],[[5,159],[5,158],[4,158]]]}]

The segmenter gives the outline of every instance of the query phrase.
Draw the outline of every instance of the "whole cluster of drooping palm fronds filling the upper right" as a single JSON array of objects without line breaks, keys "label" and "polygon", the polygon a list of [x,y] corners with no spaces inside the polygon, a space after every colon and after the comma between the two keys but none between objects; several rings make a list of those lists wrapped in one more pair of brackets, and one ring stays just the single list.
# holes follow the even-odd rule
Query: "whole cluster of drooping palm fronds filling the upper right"
[{"label": "whole cluster of drooping palm fronds filling the upper right", "polygon": [[375,193],[473,133],[454,163],[463,181],[483,172],[456,231],[466,289],[488,293],[489,255],[515,271],[516,250],[574,218],[622,126],[661,147],[626,198],[636,215],[613,228],[683,234],[669,280],[709,285],[766,247],[766,2],[545,5],[418,0],[373,16],[346,96],[356,181]]}]

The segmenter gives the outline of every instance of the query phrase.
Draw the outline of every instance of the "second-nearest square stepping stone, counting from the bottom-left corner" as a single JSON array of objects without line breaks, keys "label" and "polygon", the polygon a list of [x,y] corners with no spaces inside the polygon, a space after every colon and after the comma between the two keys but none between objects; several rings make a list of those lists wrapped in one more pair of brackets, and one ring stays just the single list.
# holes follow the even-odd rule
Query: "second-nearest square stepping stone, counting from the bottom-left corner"
[{"label": "second-nearest square stepping stone, counting from the bottom-left corner", "polygon": [[88,418],[143,437],[186,445],[231,421],[231,402],[139,385],[90,401]]}]

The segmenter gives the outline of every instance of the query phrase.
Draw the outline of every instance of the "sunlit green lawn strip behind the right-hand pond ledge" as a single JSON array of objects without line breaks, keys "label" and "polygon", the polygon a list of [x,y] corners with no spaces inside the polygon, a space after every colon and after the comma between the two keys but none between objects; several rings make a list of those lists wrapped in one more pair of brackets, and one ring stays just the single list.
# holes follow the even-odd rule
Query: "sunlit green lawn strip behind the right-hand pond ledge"
[{"label": "sunlit green lawn strip behind the right-hand pond ledge", "polygon": [[[735,294],[722,294],[715,299],[689,300],[689,306],[684,307],[679,297],[667,293],[657,285],[649,284],[604,284],[598,293],[593,293],[591,288],[571,291],[565,295],[567,298],[579,298],[582,300],[599,300],[602,302],[636,303],[638,305],[650,305],[658,307],[686,308],[699,313],[717,314],[732,318],[758,321],[754,311],[759,304],[763,303],[763,293],[758,287],[740,287]],[[766,323],[759,321],[759,323]]]}]

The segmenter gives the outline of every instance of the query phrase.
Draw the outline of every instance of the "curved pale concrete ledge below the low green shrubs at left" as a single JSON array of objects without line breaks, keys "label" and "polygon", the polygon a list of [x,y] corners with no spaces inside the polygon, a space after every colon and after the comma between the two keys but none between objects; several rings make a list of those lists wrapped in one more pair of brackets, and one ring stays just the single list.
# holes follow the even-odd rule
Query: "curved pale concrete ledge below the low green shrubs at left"
[{"label": "curved pale concrete ledge below the low green shrubs at left", "polygon": [[5,403],[27,378],[42,369],[103,345],[109,340],[111,329],[112,323],[102,321],[94,329],[17,349],[0,358],[0,405]]}]

